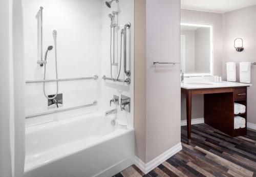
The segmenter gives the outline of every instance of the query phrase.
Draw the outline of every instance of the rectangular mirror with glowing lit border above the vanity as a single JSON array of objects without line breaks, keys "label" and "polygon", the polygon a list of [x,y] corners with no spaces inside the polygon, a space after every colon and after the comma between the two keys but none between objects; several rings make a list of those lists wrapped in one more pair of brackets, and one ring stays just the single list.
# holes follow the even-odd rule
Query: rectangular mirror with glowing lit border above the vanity
[{"label": "rectangular mirror with glowing lit border above the vanity", "polygon": [[211,76],[212,49],[212,25],[181,23],[181,72],[185,76]]}]

